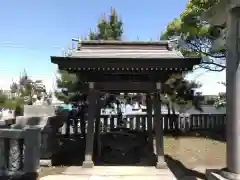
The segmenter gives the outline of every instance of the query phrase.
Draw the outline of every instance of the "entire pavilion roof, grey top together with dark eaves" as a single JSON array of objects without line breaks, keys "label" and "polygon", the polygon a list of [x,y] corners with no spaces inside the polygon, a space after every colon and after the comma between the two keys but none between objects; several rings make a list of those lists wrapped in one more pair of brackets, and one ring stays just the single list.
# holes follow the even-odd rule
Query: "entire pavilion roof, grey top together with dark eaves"
[{"label": "entire pavilion roof, grey top together with dark eaves", "polygon": [[[88,80],[90,76],[91,80],[111,79],[114,73],[118,77],[112,78],[124,76],[137,81],[146,77],[153,81],[167,77],[166,72],[191,71],[194,65],[200,64],[201,58],[184,57],[168,41],[91,40],[79,41],[78,47],[65,56],[51,56],[51,62],[60,70],[84,73],[81,77]],[[161,72],[164,74],[159,75]]]}]

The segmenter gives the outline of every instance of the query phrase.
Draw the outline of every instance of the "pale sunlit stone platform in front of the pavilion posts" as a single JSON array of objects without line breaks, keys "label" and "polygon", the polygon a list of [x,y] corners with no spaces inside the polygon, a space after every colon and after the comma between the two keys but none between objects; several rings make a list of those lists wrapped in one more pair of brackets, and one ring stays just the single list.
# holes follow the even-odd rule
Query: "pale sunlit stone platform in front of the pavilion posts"
[{"label": "pale sunlit stone platform in front of the pavilion posts", "polygon": [[52,175],[40,180],[176,180],[169,169],[131,166],[95,166],[94,168],[69,167],[62,175]]}]

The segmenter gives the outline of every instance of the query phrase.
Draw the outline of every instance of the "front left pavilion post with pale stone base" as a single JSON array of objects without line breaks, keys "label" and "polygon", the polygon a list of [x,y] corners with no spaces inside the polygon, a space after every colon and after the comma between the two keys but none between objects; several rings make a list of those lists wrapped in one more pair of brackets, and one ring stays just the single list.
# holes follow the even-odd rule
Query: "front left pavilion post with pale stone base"
[{"label": "front left pavilion post with pale stone base", "polygon": [[83,162],[83,168],[92,168],[94,166],[93,155],[93,139],[94,139],[94,119],[96,109],[96,93],[94,91],[94,83],[89,83],[88,94],[88,126],[87,126],[87,138],[85,149],[85,160]]}]

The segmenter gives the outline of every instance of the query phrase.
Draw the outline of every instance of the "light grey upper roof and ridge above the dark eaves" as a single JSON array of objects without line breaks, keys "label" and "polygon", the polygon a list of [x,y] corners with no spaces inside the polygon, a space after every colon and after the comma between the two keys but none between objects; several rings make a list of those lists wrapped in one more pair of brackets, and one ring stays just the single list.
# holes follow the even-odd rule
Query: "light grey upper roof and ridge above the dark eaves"
[{"label": "light grey upper roof and ridge above the dark eaves", "polygon": [[80,41],[70,57],[121,59],[184,58],[168,41]]}]

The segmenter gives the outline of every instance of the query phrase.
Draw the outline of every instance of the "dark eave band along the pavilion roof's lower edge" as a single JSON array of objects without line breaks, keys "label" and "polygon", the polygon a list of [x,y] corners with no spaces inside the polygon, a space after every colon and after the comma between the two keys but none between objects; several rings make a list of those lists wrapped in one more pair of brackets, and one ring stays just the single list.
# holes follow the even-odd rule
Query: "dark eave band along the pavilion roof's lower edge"
[{"label": "dark eave band along the pavilion roof's lower edge", "polygon": [[160,69],[182,69],[192,70],[194,65],[201,63],[201,58],[77,58],[51,56],[51,62],[59,68],[157,68]]}]

